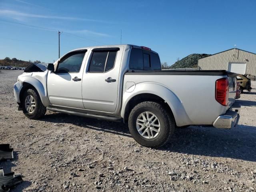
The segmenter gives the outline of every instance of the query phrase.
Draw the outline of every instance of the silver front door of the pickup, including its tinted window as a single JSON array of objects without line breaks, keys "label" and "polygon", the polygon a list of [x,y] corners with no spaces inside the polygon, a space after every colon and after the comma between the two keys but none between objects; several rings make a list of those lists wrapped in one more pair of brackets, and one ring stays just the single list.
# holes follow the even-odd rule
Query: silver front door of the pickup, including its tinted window
[{"label": "silver front door of the pickup, including its tinted window", "polygon": [[56,70],[49,72],[47,91],[53,106],[82,108],[82,63],[86,50],[66,54],[58,62]]}]

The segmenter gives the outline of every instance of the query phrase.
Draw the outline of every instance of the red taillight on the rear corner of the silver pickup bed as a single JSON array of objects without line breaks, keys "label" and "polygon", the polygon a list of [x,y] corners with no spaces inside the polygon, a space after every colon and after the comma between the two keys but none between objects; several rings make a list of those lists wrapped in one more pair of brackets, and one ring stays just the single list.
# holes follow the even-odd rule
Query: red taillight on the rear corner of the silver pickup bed
[{"label": "red taillight on the rear corner of the silver pickup bed", "polygon": [[228,105],[228,78],[216,80],[215,99],[224,106]]}]

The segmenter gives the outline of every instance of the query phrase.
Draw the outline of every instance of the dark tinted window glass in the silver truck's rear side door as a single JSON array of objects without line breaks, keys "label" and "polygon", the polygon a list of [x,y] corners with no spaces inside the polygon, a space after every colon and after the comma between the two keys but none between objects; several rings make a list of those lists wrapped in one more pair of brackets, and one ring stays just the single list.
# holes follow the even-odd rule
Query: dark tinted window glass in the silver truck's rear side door
[{"label": "dark tinted window glass in the silver truck's rear side door", "polygon": [[107,72],[114,68],[116,51],[97,51],[92,53],[89,72]]}]

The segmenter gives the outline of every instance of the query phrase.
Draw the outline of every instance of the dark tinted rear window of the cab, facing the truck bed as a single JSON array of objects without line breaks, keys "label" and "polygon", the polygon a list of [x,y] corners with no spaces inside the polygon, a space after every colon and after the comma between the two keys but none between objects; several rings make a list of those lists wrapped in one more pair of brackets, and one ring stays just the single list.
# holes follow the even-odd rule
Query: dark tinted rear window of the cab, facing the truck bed
[{"label": "dark tinted rear window of the cab, facing the truck bed", "polygon": [[134,70],[161,70],[158,54],[138,48],[132,48],[129,67]]}]

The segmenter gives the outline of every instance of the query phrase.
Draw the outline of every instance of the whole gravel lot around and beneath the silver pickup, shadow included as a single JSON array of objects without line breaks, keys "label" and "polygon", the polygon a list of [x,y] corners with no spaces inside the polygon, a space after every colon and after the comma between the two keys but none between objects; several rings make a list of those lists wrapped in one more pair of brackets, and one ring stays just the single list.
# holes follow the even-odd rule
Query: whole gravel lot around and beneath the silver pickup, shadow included
[{"label": "whole gravel lot around and beneath the silver pickup, shadow included", "polygon": [[256,191],[256,82],[238,100],[239,126],[177,129],[155,150],[118,122],[54,112],[25,118],[12,92],[22,72],[2,72],[0,143],[15,158],[0,166],[24,180],[12,191]]}]

